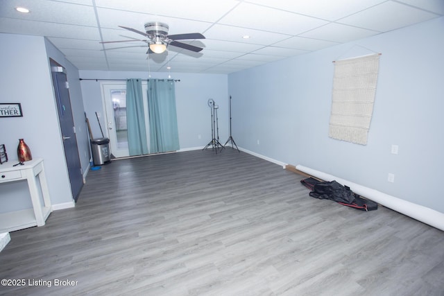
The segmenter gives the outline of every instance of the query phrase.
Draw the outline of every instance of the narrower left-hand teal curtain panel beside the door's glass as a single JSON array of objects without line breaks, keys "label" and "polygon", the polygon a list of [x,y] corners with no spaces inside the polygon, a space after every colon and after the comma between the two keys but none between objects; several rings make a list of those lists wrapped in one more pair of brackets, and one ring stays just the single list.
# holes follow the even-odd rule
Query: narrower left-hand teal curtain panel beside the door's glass
[{"label": "narrower left-hand teal curtain panel beside the door's glass", "polygon": [[126,124],[130,155],[148,154],[142,80],[126,80]]}]

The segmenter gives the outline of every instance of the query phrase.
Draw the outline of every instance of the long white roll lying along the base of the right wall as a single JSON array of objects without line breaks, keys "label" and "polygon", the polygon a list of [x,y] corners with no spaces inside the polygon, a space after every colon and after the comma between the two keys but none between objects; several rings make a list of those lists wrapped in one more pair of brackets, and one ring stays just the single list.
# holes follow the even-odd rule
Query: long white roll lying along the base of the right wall
[{"label": "long white roll lying along the base of the right wall", "polygon": [[430,209],[419,204],[414,204],[413,202],[408,202],[407,200],[395,198],[392,195],[388,195],[375,189],[370,189],[368,187],[355,184],[348,180],[341,179],[340,177],[335,177],[334,175],[323,173],[321,171],[316,171],[312,168],[307,168],[306,166],[298,165],[296,166],[296,168],[299,171],[302,171],[304,173],[307,173],[308,175],[317,177],[318,179],[324,181],[330,182],[336,180],[336,182],[349,186],[353,192],[364,196],[364,198],[373,200],[378,204],[382,204],[384,207],[388,207],[390,209],[393,209],[394,211],[398,211],[401,214],[404,214],[413,219],[419,220],[422,223],[426,223],[444,231],[444,214],[439,211],[435,211],[434,209]]}]

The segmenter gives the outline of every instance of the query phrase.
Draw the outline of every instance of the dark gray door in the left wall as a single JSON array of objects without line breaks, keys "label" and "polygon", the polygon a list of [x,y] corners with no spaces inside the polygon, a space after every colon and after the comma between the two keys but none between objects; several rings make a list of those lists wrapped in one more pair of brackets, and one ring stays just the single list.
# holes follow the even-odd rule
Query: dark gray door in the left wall
[{"label": "dark gray door in the left wall", "polygon": [[83,186],[83,175],[78,156],[74,120],[72,119],[71,100],[69,98],[69,85],[65,68],[51,60],[51,75],[53,78],[54,92],[58,110],[60,131],[62,132],[63,148],[68,166],[69,182],[74,200],[77,201]]}]

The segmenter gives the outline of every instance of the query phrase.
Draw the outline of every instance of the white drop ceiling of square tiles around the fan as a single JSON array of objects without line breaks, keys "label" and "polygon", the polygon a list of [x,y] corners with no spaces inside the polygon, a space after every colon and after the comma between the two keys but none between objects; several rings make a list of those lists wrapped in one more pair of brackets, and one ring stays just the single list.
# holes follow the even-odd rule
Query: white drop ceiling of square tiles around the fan
[{"label": "white drop ceiling of square tiles around the fan", "polygon": [[[227,74],[443,15],[443,0],[1,0],[0,32],[44,36],[80,70]],[[148,21],[202,33],[184,42],[203,51],[169,46],[148,58],[144,37],[119,28]],[[99,43],[115,40],[134,41]]]}]

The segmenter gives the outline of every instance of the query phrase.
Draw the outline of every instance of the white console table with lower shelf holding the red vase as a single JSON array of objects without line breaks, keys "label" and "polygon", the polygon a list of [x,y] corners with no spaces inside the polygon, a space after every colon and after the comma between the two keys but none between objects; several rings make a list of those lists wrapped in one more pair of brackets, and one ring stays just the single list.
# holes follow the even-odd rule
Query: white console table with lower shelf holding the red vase
[{"label": "white console table with lower shelf holding the red vase", "polygon": [[[29,193],[31,193],[33,208],[0,214],[0,233],[13,232],[36,225],[42,226],[52,211],[43,159],[36,158],[24,162],[23,165],[13,166],[17,163],[18,161],[13,159],[12,161],[9,160],[4,164],[0,164],[0,184],[26,180],[28,182]],[[40,181],[41,191],[37,186],[37,179]],[[43,195],[43,199],[41,195]]]}]

